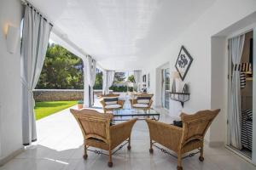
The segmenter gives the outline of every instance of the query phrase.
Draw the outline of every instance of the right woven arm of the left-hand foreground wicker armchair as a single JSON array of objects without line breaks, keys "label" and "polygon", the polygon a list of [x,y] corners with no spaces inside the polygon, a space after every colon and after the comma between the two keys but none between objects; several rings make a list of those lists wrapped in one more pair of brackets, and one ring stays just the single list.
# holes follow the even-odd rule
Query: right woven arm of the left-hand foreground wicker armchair
[{"label": "right woven arm of the left-hand foreground wicker armchair", "polygon": [[110,141],[112,149],[131,137],[131,129],[137,119],[131,119],[110,127]]}]

